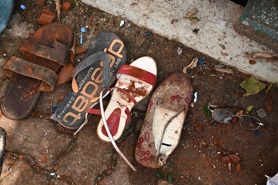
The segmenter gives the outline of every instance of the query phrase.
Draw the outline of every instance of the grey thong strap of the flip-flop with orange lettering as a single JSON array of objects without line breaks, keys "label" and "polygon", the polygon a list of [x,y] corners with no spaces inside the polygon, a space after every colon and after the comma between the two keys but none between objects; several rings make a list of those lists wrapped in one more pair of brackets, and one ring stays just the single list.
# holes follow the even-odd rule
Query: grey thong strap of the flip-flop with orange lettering
[{"label": "grey thong strap of the flip-flop with orange lettering", "polygon": [[[72,77],[72,90],[77,93],[78,92],[78,85],[76,83],[75,77],[78,75],[80,71],[85,69],[88,66],[91,66],[96,61],[102,61],[103,62],[103,68],[102,68],[102,88],[108,88],[110,85],[110,62],[109,62],[109,56],[107,53],[100,51],[97,52],[87,58],[85,58],[82,62],[80,62],[73,73]],[[94,68],[92,68],[93,70]]]}]

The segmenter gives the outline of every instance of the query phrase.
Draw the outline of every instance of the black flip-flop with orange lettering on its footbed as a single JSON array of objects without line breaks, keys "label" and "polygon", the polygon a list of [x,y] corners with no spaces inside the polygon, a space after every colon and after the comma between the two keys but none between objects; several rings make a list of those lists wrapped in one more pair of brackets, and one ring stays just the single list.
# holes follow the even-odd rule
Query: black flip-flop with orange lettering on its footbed
[{"label": "black flip-flop with orange lettering on its footbed", "polygon": [[104,31],[94,38],[85,57],[75,68],[72,89],[55,112],[58,123],[69,129],[83,124],[85,110],[99,101],[103,88],[116,81],[116,72],[125,64],[126,51],[116,34]]}]

